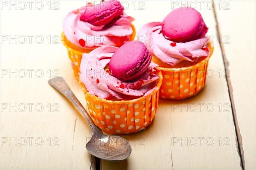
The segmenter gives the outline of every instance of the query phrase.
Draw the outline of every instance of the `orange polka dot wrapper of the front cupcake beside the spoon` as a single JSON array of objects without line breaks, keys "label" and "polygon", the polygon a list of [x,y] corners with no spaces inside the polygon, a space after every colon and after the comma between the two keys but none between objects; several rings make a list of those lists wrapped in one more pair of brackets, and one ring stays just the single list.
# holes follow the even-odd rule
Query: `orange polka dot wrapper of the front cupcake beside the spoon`
[{"label": "orange polka dot wrapper of the front cupcake beside the spoon", "polygon": [[159,73],[157,88],[147,96],[128,101],[111,101],[90,94],[83,83],[88,113],[97,127],[110,134],[129,134],[144,130],[157,112],[162,74]]}]

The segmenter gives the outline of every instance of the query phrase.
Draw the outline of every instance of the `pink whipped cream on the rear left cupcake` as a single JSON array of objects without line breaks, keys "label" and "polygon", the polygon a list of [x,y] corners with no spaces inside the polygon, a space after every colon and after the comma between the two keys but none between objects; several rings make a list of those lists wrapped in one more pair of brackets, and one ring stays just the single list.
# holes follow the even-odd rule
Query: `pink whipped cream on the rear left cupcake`
[{"label": "pink whipped cream on the rear left cupcake", "polygon": [[94,26],[88,22],[81,21],[81,14],[93,5],[87,5],[76,9],[64,18],[63,31],[71,43],[84,49],[96,48],[103,45],[120,46],[127,43],[129,36],[133,34],[133,17],[127,16],[125,12],[108,25]]}]

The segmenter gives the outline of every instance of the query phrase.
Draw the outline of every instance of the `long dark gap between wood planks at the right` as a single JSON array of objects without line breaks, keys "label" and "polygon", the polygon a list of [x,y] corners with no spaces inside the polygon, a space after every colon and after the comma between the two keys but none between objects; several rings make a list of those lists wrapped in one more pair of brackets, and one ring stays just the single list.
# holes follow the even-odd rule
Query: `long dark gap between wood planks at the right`
[{"label": "long dark gap between wood planks at the right", "polygon": [[[216,3],[214,2],[214,0],[212,0],[214,3],[214,6],[216,6]],[[217,34],[220,34],[220,28],[218,25],[218,18],[217,18],[217,12],[215,7],[213,7],[213,13],[214,13],[214,17],[215,17],[215,21],[216,21],[216,29],[217,29]],[[217,36],[218,36],[217,35]],[[225,55],[225,51],[224,51],[224,46],[223,44],[220,42],[219,40],[219,44],[221,46],[221,53],[222,53],[222,58],[224,61],[224,68],[225,70],[227,70],[229,68],[229,62],[227,61],[226,55]],[[231,109],[232,109],[232,113],[233,113],[233,121],[234,121],[234,125],[235,125],[235,130],[236,130],[236,143],[237,143],[237,152],[239,153],[240,159],[241,159],[241,168],[242,170],[245,170],[245,161],[244,161],[244,150],[243,150],[243,143],[242,143],[242,136],[240,133],[240,129],[239,129],[239,125],[237,122],[237,117],[236,117],[236,107],[235,107],[235,103],[234,103],[234,98],[233,98],[233,87],[230,81],[230,78],[227,76],[227,72],[225,72],[225,77],[226,77],[226,81],[227,81],[227,86],[228,86],[228,91],[229,91],[229,96],[230,96],[230,102],[231,102]]]}]

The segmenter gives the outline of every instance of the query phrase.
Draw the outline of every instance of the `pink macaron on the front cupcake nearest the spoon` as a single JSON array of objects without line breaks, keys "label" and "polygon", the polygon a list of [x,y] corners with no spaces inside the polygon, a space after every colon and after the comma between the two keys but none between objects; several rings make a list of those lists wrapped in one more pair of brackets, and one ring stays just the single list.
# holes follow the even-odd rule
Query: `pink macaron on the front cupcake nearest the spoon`
[{"label": "pink macaron on the front cupcake nearest the spoon", "polygon": [[132,80],[148,69],[151,59],[151,52],[142,42],[130,41],[113,54],[109,71],[119,80]]}]

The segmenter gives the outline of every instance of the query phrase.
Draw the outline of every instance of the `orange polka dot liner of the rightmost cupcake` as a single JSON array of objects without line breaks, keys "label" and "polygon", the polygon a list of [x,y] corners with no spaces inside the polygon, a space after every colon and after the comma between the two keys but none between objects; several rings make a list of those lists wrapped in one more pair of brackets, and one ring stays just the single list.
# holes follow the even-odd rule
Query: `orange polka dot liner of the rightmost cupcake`
[{"label": "orange polka dot liner of the rightmost cupcake", "polygon": [[204,88],[209,58],[214,49],[211,43],[208,47],[209,56],[193,66],[175,69],[158,67],[163,74],[160,98],[181,100],[198,94]]}]

